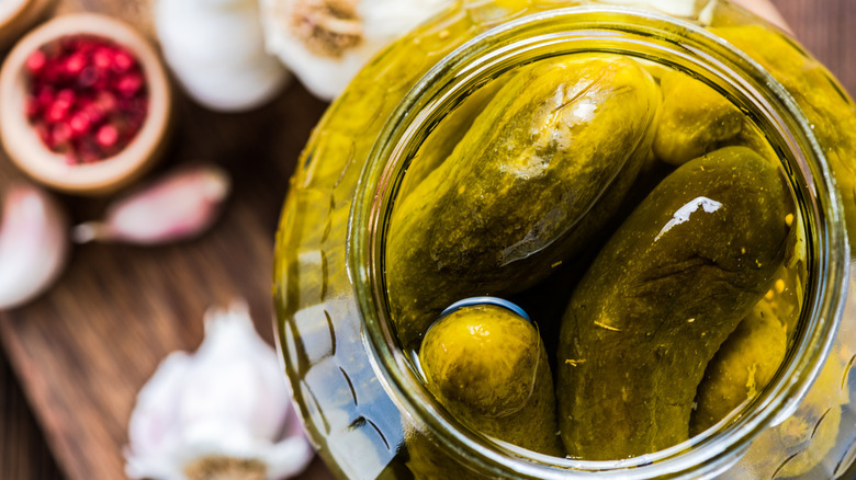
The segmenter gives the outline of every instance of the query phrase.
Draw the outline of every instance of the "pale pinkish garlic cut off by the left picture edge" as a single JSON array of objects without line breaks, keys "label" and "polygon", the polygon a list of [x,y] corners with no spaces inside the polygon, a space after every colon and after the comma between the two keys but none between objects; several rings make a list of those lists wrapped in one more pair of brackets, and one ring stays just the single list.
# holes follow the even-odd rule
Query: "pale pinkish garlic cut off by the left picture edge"
[{"label": "pale pinkish garlic cut off by the left picture edge", "polygon": [[7,191],[0,221],[0,310],[5,310],[59,276],[68,258],[68,220],[46,192],[21,184]]}]

